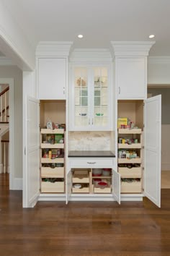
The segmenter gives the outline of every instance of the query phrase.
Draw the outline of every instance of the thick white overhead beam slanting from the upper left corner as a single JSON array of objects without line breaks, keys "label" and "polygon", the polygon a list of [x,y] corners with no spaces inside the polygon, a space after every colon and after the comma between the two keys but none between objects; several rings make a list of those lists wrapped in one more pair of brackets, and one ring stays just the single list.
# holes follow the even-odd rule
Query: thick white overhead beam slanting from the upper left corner
[{"label": "thick white overhead beam slanting from the upper left corner", "polygon": [[3,54],[12,59],[19,68],[26,71],[35,68],[35,53],[32,46],[1,1],[0,44]]}]

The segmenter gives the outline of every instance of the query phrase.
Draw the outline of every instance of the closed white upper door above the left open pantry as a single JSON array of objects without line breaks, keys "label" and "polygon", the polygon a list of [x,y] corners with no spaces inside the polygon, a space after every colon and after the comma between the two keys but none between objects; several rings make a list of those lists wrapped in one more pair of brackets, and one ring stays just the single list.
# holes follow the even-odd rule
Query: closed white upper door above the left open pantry
[{"label": "closed white upper door above the left open pantry", "polygon": [[66,59],[39,58],[37,88],[40,100],[66,99]]}]

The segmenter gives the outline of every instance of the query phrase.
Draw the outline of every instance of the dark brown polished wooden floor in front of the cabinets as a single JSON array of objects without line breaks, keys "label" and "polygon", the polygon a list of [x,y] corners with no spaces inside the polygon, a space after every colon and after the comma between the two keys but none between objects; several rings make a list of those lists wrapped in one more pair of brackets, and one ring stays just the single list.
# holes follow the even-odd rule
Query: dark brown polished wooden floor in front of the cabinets
[{"label": "dark brown polished wooden floor in front of the cabinets", "polygon": [[0,174],[0,255],[170,255],[170,189],[143,202],[38,202],[22,208]]}]

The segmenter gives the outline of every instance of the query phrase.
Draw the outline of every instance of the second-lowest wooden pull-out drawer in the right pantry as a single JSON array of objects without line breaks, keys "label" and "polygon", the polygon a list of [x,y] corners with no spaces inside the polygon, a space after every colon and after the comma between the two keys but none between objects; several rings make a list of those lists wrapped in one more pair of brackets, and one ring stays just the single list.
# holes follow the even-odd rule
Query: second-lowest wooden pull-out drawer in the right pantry
[{"label": "second-lowest wooden pull-out drawer in the right pantry", "polygon": [[141,178],[141,167],[118,167],[118,172],[122,178]]}]

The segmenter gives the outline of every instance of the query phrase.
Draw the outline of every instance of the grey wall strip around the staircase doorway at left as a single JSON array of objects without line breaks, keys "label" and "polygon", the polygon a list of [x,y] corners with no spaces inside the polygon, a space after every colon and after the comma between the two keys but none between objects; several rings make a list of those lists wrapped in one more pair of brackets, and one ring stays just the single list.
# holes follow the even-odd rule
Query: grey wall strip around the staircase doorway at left
[{"label": "grey wall strip around the staircase doorway at left", "polygon": [[14,79],[14,179],[22,178],[22,70],[0,66],[0,78]]}]

